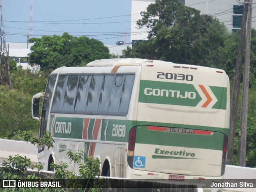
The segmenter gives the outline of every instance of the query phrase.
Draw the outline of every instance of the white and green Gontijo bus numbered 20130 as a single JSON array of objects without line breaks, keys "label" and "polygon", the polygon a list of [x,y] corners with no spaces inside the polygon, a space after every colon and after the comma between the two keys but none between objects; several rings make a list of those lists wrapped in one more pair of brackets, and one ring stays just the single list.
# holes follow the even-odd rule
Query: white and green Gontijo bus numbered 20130
[{"label": "white and green Gontijo bus numbered 20130", "polygon": [[55,140],[49,151],[39,146],[38,161],[73,169],[67,150],[82,150],[102,176],[221,179],[229,92],[223,70],[202,66],[127,58],[58,68],[32,99],[40,137],[48,130]]}]

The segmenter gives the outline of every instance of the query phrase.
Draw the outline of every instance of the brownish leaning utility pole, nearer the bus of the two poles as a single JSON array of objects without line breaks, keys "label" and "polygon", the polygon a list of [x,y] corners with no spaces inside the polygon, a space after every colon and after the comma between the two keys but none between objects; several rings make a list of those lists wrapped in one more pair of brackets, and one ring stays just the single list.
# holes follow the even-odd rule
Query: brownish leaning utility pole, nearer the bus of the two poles
[{"label": "brownish leaning utility pole, nearer the bus of the two poles", "polygon": [[236,68],[235,68],[235,76],[234,76],[234,85],[233,85],[233,93],[232,93],[232,103],[230,109],[230,131],[229,131],[229,139],[228,139],[228,156],[227,156],[227,164],[232,164],[233,158],[233,148],[234,148],[234,139],[236,133],[236,118],[238,113],[238,98],[240,91],[240,79],[241,79],[241,71],[242,71],[242,60],[244,53],[244,40],[245,40],[245,32],[246,32],[246,19],[248,13],[248,0],[244,1],[244,10],[242,16],[242,26],[240,30],[240,38],[238,45],[238,53],[236,58]]}]

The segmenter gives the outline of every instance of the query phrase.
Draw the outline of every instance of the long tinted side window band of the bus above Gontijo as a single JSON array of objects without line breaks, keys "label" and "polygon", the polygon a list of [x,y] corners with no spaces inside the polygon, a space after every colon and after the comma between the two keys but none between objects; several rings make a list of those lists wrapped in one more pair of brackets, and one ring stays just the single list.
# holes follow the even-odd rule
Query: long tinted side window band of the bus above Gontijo
[{"label": "long tinted side window band of the bus above Gontijo", "polygon": [[52,112],[126,116],[134,74],[60,75]]}]

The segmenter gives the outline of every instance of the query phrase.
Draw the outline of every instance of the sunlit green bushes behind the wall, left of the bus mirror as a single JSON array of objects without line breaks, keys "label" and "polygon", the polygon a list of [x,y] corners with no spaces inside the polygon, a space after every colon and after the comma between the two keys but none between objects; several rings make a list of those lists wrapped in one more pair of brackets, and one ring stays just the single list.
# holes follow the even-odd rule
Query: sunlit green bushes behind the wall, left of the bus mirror
[{"label": "sunlit green bushes behind the wall, left of the bus mirror", "polygon": [[44,92],[48,75],[18,68],[11,73],[12,90],[0,85],[0,138],[20,140],[18,130],[32,130],[38,135],[39,122],[31,117],[31,99]]}]

